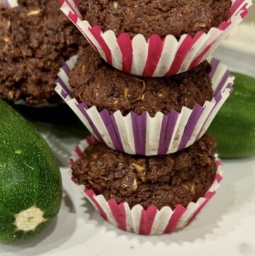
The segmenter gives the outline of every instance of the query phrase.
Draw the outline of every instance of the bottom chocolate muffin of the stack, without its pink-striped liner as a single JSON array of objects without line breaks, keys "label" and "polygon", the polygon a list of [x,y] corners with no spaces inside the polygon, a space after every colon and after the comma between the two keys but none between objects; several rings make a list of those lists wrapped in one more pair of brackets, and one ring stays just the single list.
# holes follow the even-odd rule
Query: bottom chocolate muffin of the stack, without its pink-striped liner
[{"label": "bottom chocolate muffin of the stack, without its pink-striped liner", "polygon": [[215,140],[204,135],[190,148],[171,155],[125,155],[100,143],[84,150],[72,167],[78,184],[103,194],[106,200],[144,208],[188,206],[210,188],[217,167]]}]

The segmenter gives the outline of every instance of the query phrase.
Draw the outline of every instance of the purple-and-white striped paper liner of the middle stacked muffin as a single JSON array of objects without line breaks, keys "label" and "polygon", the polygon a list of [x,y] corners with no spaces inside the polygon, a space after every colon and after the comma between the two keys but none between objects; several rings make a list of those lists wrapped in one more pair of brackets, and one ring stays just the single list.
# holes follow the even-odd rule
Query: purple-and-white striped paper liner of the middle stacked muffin
[{"label": "purple-and-white striped paper liner of the middle stacked muffin", "polygon": [[74,56],[60,69],[57,93],[101,143],[132,155],[165,155],[192,145],[208,129],[233,89],[234,77],[227,67],[210,58],[214,93],[212,100],[205,101],[203,106],[183,107],[181,113],[171,111],[169,115],[157,112],[154,117],[147,111],[140,116],[133,112],[123,116],[120,111],[111,114],[106,109],[99,112],[96,106],[88,108],[72,96],[68,75],[76,62],[77,56]]}]

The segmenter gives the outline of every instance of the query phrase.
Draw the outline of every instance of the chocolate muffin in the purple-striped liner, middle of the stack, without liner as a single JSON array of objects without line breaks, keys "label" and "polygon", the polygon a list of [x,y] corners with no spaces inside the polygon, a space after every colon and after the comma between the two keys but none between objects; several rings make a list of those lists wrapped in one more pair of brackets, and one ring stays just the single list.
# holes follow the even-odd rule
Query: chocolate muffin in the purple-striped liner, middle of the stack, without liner
[{"label": "chocolate muffin in the purple-striped liner, middle of the stack, without liner", "polygon": [[195,69],[171,77],[135,77],[120,72],[101,59],[91,46],[79,50],[79,59],[69,74],[72,94],[88,107],[98,111],[120,110],[123,115],[134,111],[169,114],[180,112],[183,106],[203,106],[212,99],[210,65],[202,62]]}]

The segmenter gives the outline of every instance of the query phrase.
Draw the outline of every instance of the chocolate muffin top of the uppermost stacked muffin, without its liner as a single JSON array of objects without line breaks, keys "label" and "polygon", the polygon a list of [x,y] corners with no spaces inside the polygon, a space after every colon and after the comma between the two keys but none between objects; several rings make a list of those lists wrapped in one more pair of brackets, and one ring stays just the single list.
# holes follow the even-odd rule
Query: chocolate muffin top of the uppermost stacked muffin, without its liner
[{"label": "chocolate muffin top of the uppermost stacked muffin, without its liner", "polygon": [[161,38],[205,33],[227,20],[231,0],[79,0],[79,11],[91,26],[116,35],[158,34]]}]

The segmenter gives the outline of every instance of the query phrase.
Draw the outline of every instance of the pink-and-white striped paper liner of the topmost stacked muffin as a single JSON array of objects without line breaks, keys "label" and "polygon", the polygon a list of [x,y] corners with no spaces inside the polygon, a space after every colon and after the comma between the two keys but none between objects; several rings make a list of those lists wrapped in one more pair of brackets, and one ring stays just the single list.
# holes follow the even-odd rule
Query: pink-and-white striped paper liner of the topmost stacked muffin
[{"label": "pink-and-white striped paper liner of the topmost stacked muffin", "polygon": [[62,11],[106,62],[123,72],[145,77],[164,77],[196,67],[242,21],[252,4],[251,0],[232,0],[228,20],[208,33],[198,31],[193,38],[182,35],[179,40],[174,35],[163,40],[159,35],[151,35],[146,40],[141,34],[130,39],[127,33],[117,37],[113,30],[103,32],[100,26],[91,27],[88,21],[82,21],[77,0],[60,2]]}]

